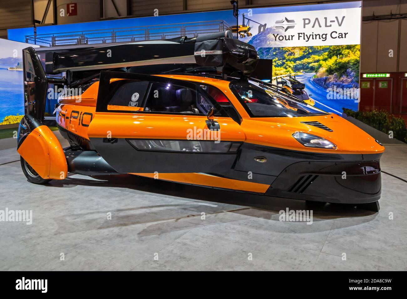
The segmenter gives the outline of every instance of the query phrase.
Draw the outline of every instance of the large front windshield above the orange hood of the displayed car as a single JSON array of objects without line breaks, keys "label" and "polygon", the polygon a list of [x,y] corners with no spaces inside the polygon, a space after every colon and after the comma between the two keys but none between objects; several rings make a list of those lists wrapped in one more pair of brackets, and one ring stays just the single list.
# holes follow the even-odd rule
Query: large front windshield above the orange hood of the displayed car
[{"label": "large front windshield above the orange hood of the displayed car", "polygon": [[229,85],[251,117],[295,117],[328,114],[300,100],[294,100],[267,85],[254,81],[232,81]]}]

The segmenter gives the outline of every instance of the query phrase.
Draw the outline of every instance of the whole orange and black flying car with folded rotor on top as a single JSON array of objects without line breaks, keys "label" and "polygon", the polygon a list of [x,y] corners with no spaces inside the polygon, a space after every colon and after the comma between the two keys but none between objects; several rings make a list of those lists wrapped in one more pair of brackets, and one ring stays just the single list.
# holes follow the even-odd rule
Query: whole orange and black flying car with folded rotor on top
[{"label": "whole orange and black flying car with folded rotor on top", "polygon": [[[379,209],[384,147],[250,78],[257,52],[230,31],[50,52],[45,70],[33,48],[23,55],[17,151],[31,183],[126,173]],[[42,123],[49,83],[65,88],[55,118],[68,148]]]}]

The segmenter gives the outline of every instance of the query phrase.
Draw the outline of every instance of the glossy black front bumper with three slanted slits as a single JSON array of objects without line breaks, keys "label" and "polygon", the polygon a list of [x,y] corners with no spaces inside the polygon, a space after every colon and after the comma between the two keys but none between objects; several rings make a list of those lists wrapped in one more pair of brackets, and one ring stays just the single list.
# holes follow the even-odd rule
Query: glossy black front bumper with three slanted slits
[{"label": "glossy black front bumper with three slanted slits", "polygon": [[[366,168],[374,170],[366,173]],[[297,162],[285,168],[265,193],[269,196],[328,203],[371,203],[379,200],[380,194],[379,160]]]}]

